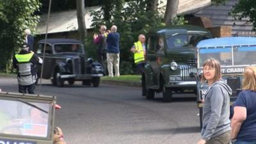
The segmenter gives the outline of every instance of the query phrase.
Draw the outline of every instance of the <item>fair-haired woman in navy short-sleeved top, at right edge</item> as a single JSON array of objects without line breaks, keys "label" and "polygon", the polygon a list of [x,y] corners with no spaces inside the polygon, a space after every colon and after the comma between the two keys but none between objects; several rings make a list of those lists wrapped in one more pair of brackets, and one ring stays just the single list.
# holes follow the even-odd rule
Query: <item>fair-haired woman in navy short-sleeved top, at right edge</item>
[{"label": "fair-haired woman in navy short-sleeved top, at right edge", "polygon": [[246,67],[243,91],[234,103],[232,140],[236,144],[256,144],[256,67]]}]

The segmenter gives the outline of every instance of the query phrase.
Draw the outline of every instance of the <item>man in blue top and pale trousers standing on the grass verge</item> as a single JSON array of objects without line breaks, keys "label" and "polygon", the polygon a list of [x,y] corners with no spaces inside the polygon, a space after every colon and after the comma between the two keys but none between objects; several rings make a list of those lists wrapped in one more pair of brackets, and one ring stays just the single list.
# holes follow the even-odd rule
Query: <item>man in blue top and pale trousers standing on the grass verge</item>
[{"label": "man in blue top and pale trousers standing on the grass verge", "polygon": [[108,61],[108,76],[113,77],[113,65],[115,67],[115,76],[119,77],[119,41],[120,35],[116,32],[117,27],[113,25],[111,27],[111,33],[108,34],[107,41],[107,61]]}]

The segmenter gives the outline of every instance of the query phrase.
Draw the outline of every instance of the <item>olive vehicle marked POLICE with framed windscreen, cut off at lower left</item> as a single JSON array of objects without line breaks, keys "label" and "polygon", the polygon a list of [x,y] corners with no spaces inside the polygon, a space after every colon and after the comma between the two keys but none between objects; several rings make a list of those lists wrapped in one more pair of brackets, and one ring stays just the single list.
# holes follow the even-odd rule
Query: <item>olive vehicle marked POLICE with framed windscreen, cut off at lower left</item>
[{"label": "olive vehicle marked POLICE with framed windscreen, cut off at lower left", "polygon": [[0,92],[1,144],[52,144],[56,97]]}]

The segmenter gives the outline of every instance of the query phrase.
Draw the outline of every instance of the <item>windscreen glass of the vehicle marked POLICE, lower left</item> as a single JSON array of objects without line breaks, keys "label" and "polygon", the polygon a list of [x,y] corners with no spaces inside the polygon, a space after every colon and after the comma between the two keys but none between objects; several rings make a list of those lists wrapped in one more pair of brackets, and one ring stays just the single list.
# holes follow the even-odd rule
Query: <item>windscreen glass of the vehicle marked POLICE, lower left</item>
[{"label": "windscreen glass of the vehicle marked POLICE, lower left", "polygon": [[51,104],[1,99],[0,106],[0,134],[49,138]]}]

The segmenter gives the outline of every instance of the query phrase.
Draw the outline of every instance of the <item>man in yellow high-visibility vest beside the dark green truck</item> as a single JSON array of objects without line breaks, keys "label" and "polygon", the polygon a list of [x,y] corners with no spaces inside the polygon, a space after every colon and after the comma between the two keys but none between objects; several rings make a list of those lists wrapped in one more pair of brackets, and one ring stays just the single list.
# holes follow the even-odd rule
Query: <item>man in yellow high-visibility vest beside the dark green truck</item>
[{"label": "man in yellow high-visibility vest beside the dark green truck", "polygon": [[138,36],[138,42],[134,42],[131,51],[134,53],[134,63],[136,65],[136,72],[141,74],[143,67],[145,65],[145,35],[140,34]]}]

